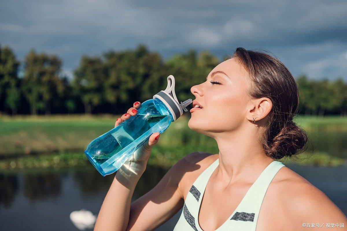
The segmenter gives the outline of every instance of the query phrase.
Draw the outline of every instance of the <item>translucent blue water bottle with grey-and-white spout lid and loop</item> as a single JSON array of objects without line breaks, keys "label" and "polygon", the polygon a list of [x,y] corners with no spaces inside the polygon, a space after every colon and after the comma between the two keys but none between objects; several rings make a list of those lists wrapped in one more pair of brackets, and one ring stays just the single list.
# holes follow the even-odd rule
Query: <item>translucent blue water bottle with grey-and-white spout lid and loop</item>
[{"label": "translucent blue water bottle with grey-and-white spout lid and loop", "polygon": [[[175,78],[167,77],[168,86],[137,108],[137,114],[112,130],[95,138],[84,151],[88,160],[102,176],[116,172],[154,132],[164,132],[193,102],[179,103],[175,93]],[[170,83],[171,81],[171,83]]]}]

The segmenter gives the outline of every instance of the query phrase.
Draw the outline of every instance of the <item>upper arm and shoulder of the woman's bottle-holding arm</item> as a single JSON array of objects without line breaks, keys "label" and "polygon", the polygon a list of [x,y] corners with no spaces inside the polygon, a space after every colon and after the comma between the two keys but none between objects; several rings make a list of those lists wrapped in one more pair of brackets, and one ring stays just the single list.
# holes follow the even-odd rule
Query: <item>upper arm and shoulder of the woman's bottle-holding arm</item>
[{"label": "upper arm and shoulder of the woman's bottle-holding arm", "polygon": [[197,175],[214,160],[210,153],[189,153],[148,193],[131,204],[127,231],[151,231],[168,221],[184,204],[184,195]]}]

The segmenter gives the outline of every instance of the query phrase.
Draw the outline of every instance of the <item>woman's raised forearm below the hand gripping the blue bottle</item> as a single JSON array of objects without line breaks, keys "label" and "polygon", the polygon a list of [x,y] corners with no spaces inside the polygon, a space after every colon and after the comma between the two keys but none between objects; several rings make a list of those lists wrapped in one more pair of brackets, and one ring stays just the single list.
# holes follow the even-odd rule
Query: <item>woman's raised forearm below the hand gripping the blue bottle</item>
[{"label": "woman's raised forearm below the hand gripping the blue bottle", "polygon": [[131,198],[141,175],[126,181],[124,176],[116,173],[102,203],[94,231],[126,230],[129,222]]}]

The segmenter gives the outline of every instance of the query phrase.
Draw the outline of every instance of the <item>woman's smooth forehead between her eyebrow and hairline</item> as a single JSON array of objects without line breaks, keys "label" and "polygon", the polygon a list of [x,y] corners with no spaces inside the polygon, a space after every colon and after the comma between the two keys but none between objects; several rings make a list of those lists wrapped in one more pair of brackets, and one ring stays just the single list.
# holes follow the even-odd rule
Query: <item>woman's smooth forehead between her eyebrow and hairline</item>
[{"label": "woman's smooth forehead between her eyebrow and hairline", "polygon": [[[248,76],[245,68],[237,61],[236,58],[230,58],[213,68],[211,73],[215,71],[223,71],[225,72],[231,80],[241,81],[246,80]],[[210,73],[210,74],[211,74]]]}]

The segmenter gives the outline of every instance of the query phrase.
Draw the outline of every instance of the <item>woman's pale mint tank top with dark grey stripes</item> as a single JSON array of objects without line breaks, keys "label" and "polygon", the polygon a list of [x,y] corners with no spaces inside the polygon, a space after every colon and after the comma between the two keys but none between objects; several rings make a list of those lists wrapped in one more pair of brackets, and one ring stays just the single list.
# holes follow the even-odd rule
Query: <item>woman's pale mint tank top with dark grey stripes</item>
[{"label": "woman's pale mint tank top with dark grey stripes", "polygon": [[[182,213],[175,225],[174,231],[203,231],[198,224],[198,214],[207,182],[213,171],[219,165],[215,160],[195,180],[184,201]],[[255,231],[260,207],[266,190],[278,170],[285,165],[272,161],[248,189],[242,201],[230,217],[214,231]]]}]

